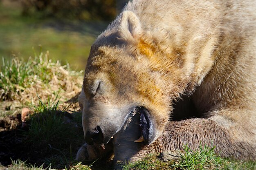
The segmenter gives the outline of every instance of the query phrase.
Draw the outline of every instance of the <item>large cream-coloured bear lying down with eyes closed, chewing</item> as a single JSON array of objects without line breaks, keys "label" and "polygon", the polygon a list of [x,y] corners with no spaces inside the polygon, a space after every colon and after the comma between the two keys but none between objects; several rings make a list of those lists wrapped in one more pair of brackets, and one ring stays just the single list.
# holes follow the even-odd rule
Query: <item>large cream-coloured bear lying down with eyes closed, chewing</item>
[{"label": "large cream-coloured bear lying down with eyes closed, chewing", "polygon": [[133,0],[92,44],[76,159],[256,158],[256,2]]}]

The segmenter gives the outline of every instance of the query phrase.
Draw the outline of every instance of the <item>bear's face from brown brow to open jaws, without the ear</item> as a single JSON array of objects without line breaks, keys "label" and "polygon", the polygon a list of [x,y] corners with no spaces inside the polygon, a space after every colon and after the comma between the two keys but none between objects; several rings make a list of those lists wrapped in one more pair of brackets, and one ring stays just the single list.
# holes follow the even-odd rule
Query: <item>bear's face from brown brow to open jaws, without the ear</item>
[{"label": "bear's face from brown brow to open jaws, without the ear", "polygon": [[[146,78],[146,70],[136,66],[134,58],[124,55],[123,51],[112,47],[101,46],[91,51],[79,96],[84,137],[88,144],[108,143],[128,125],[135,113],[140,114],[141,128],[137,130],[141,130],[145,144],[150,144],[159,137],[168,120],[161,110],[162,104],[153,99],[156,94],[162,94],[157,91],[157,86],[149,86],[155,81],[154,77]],[[127,60],[122,60],[122,56]]]}]

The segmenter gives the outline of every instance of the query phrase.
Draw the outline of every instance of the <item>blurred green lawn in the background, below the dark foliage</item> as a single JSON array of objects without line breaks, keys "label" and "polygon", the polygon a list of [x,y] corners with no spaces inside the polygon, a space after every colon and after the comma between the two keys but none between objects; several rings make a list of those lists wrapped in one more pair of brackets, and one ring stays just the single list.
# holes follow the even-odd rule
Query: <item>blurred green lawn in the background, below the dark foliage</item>
[{"label": "blurred green lawn in the background, below the dark foliage", "polygon": [[[73,69],[84,69],[90,46],[108,22],[43,18],[40,13],[22,16],[19,7],[0,2],[0,57],[33,56],[32,47],[51,51],[52,59],[68,61]],[[0,66],[2,61],[0,61]]]}]

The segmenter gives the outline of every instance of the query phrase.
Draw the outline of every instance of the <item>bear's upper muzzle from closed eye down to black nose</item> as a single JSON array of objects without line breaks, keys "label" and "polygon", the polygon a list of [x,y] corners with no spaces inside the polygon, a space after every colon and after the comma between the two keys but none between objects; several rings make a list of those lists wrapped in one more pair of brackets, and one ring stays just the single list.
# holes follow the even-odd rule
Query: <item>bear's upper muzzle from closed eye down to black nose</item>
[{"label": "bear's upper muzzle from closed eye down to black nose", "polygon": [[[89,74],[86,76],[88,79],[92,78],[92,73]],[[88,144],[108,143],[121,130],[130,112],[134,110],[128,100],[120,98],[116,92],[118,90],[114,89],[105,76],[105,73],[96,73],[95,79],[90,81],[92,84],[85,80],[79,96],[79,104],[83,108],[84,137]],[[99,135],[93,135],[95,130]]]}]

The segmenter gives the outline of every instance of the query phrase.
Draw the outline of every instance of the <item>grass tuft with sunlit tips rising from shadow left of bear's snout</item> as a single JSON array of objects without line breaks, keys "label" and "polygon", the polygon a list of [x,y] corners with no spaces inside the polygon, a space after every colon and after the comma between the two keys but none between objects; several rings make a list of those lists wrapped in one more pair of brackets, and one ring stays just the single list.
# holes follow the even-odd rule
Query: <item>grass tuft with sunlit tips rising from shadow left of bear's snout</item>
[{"label": "grass tuft with sunlit tips rising from shadow left of bear's snout", "polygon": [[70,134],[65,132],[69,133],[72,129],[63,122],[64,112],[58,111],[57,108],[58,101],[51,103],[49,97],[47,102],[40,100],[40,104],[35,106],[35,114],[31,116],[29,131],[25,132],[27,143],[38,144],[40,141],[49,144],[70,137]]}]

